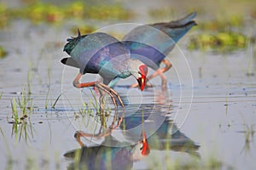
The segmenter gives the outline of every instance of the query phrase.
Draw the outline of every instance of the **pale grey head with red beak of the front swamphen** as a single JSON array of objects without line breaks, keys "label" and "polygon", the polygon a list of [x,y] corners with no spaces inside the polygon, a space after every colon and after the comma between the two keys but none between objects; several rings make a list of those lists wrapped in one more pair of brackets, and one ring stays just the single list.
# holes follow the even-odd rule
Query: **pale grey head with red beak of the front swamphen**
[{"label": "pale grey head with red beak of the front swamphen", "polygon": [[138,59],[129,59],[129,70],[131,75],[137,79],[139,87],[143,91],[147,81],[148,66]]}]

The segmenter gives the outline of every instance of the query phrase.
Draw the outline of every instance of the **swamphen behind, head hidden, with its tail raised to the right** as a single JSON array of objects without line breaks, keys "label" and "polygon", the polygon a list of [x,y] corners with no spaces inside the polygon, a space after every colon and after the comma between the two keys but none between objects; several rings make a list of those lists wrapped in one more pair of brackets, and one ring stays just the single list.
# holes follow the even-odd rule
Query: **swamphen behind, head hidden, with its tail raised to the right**
[{"label": "swamphen behind, head hidden, with its tail raised to the right", "polygon": [[[130,48],[132,58],[140,59],[148,67],[156,70],[148,80],[160,75],[163,89],[166,89],[166,77],[163,73],[172,67],[171,62],[165,58],[172,51],[175,43],[193,26],[196,26],[193,20],[195,16],[196,12],[181,20],[137,26],[122,40]],[[161,62],[166,67],[160,69]],[[131,87],[137,87],[137,84]]]}]

